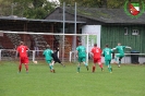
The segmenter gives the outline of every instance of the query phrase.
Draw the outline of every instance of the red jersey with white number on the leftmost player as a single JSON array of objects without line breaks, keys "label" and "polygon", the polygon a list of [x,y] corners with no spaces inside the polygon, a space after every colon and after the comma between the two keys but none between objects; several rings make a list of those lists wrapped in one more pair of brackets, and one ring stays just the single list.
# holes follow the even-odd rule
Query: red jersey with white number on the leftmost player
[{"label": "red jersey with white number on the leftmost player", "polygon": [[17,47],[16,50],[19,51],[20,57],[27,57],[27,51],[26,51],[26,50],[28,50],[27,46],[21,45]]}]

